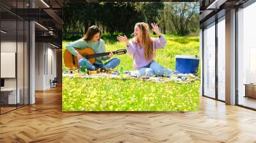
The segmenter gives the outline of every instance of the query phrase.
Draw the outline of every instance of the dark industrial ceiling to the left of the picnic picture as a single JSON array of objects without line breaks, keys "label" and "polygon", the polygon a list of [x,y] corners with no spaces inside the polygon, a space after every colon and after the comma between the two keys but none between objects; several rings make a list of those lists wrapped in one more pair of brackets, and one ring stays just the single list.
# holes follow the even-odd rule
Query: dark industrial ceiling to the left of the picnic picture
[{"label": "dark industrial ceiling to the left of the picnic picture", "polygon": [[[61,47],[62,43],[62,6],[61,0],[25,0],[0,1],[1,29],[8,31],[5,38],[20,37],[23,29],[18,27],[16,20],[33,20],[35,24],[36,41],[50,42]],[[14,22],[13,22],[14,21]],[[18,22],[19,26],[19,22]]]}]

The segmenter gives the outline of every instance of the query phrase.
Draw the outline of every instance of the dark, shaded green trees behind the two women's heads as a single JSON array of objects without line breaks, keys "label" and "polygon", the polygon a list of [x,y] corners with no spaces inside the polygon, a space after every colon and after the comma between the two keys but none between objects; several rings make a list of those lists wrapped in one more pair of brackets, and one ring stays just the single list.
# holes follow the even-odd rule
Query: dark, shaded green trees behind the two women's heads
[{"label": "dark, shaded green trees behind the two women's heads", "polygon": [[[157,8],[161,3],[146,3],[150,11],[136,10],[136,3],[68,3],[63,6],[63,39],[68,39],[68,31],[85,33],[88,27],[97,25],[105,33],[133,33],[136,22],[147,17],[155,20],[159,16]],[[144,9],[143,9],[144,10]],[[152,12],[151,10],[154,10]]]}]

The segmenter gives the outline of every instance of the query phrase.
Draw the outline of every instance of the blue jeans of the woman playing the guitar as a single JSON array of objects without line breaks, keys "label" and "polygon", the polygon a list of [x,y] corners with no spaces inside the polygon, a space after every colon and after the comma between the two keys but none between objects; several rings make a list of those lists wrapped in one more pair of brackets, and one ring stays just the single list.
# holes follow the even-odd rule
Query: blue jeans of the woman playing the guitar
[{"label": "blue jeans of the woman playing the guitar", "polygon": [[88,70],[97,70],[98,68],[113,69],[120,64],[120,59],[115,57],[104,64],[92,64],[90,63],[90,61],[87,61],[87,59],[79,59],[78,66],[79,67],[83,66],[84,62],[86,62],[86,66]]}]

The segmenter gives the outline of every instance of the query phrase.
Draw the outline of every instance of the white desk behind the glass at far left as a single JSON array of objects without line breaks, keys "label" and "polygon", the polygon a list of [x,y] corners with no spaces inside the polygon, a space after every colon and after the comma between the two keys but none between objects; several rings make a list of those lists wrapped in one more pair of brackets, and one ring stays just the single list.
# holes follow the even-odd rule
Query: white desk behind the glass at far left
[{"label": "white desk behind the glass at far left", "polygon": [[8,104],[16,104],[20,103],[20,89],[17,88],[18,94],[16,98],[16,88],[3,88],[1,89],[1,96],[4,93],[3,96],[6,96],[6,93],[8,93]]}]

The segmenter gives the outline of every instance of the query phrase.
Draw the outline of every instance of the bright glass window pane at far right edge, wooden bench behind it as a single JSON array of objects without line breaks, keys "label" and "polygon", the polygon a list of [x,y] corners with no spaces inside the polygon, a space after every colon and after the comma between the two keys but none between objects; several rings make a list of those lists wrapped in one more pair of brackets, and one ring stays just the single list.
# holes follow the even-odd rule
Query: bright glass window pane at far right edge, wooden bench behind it
[{"label": "bright glass window pane at far right edge, wooden bench behind it", "polygon": [[[237,12],[238,104],[256,109],[256,3]],[[250,85],[254,84],[254,85]]]}]

